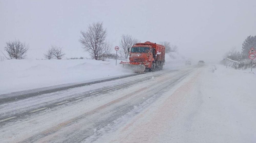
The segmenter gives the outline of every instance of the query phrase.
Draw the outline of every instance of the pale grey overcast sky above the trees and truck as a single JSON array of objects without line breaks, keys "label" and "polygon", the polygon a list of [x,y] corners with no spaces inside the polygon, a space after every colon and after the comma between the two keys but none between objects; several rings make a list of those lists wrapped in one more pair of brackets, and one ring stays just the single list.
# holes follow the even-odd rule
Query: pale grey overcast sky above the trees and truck
[{"label": "pale grey overcast sky above the trees and truck", "polygon": [[43,58],[51,45],[63,47],[68,58],[88,56],[78,41],[80,30],[97,21],[103,21],[113,48],[122,34],[131,34],[142,42],[169,41],[188,58],[216,62],[256,35],[256,1],[0,0],[0,49],[16,38],[29,44],[29,59]]}]

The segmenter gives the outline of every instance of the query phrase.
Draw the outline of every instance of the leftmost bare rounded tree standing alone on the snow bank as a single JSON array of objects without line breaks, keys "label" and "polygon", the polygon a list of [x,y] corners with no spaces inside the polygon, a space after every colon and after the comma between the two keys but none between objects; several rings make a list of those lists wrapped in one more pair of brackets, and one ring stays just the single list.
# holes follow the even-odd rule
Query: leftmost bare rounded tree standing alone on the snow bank
[{"label": "leftmost bare rounded tree standing alone on the snow bank", "polygon": [[4,47],[10,59],[24,59],[28,49],[29,46],[19,40],[6,42],[6,47]]}]

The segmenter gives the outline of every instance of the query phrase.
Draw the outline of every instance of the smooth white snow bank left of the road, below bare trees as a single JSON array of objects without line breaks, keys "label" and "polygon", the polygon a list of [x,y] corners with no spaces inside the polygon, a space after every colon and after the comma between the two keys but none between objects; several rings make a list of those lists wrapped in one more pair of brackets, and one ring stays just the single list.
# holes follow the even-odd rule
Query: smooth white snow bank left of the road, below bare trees
[{"label": "smooth white snow bank left of the road, below bare trees", "polygon": [[[119,63],[120,61],[118,61]],[[86,82],[132,74],[115,60],[4,60],[0,62],[0,95],[10,92]]]}]

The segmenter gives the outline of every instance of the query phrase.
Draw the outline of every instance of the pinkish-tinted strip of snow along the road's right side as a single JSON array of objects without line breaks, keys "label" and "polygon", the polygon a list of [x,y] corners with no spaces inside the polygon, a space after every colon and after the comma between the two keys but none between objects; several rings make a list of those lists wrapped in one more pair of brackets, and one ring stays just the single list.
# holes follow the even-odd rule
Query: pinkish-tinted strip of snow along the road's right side
[{"label": "pinkish-tinted strip of snow along the road's right side", "polygon": [[[171,126],[169,122],[174,120],[178,114],[179,107],[185,100],[185,95],[189,94],[189,91],[193,88],[193,84],[198,79],[200,73],[197,73],[188,82],[181,85],[171,95],[169,95],[165,101],[154,110],[154,115],[151,118],[146,116],[152,112],[152,109],[148,108],[140,116],[137,116],[133,121],[122,128],[117,139],[109,142],[158,142],[158,137],[168,131]],[[182,101],[182,102],[181,102]],[[185,105],[184,105],[185,106]],[[178,109],[174,109],[178,108]],[[178,111],[177,111],[178,110]],[[147,118],[146,121],[143,118]],[[143,122],[141,122],[143,120]],[[168,142],[172,142],[168,140]],[[176,142],[176,141],[175,141]]]}]

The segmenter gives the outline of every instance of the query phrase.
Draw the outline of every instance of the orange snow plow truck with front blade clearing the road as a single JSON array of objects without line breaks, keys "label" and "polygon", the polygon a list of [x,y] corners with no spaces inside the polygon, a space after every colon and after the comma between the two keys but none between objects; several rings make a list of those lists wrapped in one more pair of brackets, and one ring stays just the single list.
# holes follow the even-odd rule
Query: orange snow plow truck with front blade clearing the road
[{"label": "orange snow plow truck with front blade clearing the road", "polygon": [[163,45],[146,41],[134,44],[131,49],[128,49],[128,52],[130,52],[130,62],[121,61],[120,64],[136,73],[163,69],[165,62],[165,47]]}]

